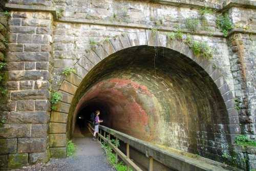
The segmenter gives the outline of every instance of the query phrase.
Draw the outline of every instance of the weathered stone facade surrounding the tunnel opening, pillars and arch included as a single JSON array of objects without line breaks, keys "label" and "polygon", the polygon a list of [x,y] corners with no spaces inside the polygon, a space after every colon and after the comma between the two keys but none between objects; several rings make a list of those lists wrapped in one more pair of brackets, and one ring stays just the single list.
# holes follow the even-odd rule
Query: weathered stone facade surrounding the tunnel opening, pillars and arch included
[{"label": "weathered stone facade surrounding the tunnel opening, pillars and arch included", "polygon": [[[73,114],[78,110],[76,105],[96,84],[93,80],[107,73],[101,73],[100,67],[113,68],[108,56],[144,45],[181,53],[189,58],[185,61],[195,61],[202,70],[198,72],[206,72],[206,77],[218,87],[226,106],[227,123],[215,125],[214,140],[199,131],[200,155],[221,158],[223,153],[229,153],[240,133],[255,138],[255,2],[190,1],[182,5],[163,2],[9,1],[6,4],[11,15],[6,55],[10,95],[9,108],[2,114],[8,119],[0,127],[0,167],[16,168],[47,162],[50,156],[65,157],[66,140],[74,127]],[[198,16],[198,8],[203,6],[216,10],[206,15],[209,30],[201,26],[197,32],[185,29],[185,19]],[[236,27],[225,38],[215,22],[217,14],[224,10],[229,12],[235,26],[249,29]],[[184,42],[169,40],[166,34],[175,31],[177,25],[194,40],[207,42],[214,48],[213,59],[200,59]],[[94,41],[101,44],[92,45]],[[74,67],[77,73],[63,76],[61,72],[67,67]],[[59,91],[63,98],[57,104],[58,109],[50,113],[51,91]],[[186,151],[186,141],[182,142],[185,145],[173,147]],[[249,160],[244,167],[256,168],[253,148],[238,146],[234,151],[239,161]],[[214,155],[209,156],[210,153]]]}]

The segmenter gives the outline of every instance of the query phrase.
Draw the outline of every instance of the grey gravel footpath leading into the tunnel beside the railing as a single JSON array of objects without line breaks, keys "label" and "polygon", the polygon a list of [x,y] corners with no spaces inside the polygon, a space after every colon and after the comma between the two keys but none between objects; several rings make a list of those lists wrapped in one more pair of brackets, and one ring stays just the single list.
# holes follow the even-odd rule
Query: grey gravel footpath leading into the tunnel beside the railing
[{"label": "grey gravel footpath leading into the tunnel beside the railing", "polygon": [[51,159],[46,164],[35,164],[12,171],[115,171],[106,161],[106,156],[99,141],[93,141],[89,132],[80,134],[74,138],[76,144],[76,155],[65,159]]}]

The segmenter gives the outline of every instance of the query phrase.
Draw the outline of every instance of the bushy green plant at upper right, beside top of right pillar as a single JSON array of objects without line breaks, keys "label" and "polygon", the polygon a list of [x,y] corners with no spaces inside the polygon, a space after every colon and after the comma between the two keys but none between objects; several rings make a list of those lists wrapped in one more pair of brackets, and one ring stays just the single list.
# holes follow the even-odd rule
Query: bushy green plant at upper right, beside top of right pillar
[{"label": "bushy green plant at upper right, beside top of right pillar", "polygon": [[228,35],[228,32],[233,29],[233,24],[227,13],[218,16],[216,23],[225,37]]}]

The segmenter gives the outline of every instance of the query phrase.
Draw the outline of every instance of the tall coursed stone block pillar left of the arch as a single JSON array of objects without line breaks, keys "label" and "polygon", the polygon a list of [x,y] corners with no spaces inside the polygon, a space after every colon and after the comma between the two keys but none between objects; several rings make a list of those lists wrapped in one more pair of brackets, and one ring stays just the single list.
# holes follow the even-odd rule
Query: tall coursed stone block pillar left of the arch
[{"label": "tall coursed stone block pillar left of the arch", "polygon": [[9,102],[6,124],[0,127],[4,167],[16,168],[49,159],[49,61],[52,14],[9,12]]}]

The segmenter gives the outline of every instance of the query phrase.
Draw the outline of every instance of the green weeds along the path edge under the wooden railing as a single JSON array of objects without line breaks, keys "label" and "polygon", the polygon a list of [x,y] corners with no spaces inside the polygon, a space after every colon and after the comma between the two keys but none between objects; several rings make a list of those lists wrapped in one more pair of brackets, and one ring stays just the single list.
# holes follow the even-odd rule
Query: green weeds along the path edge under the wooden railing
[{"label": "green weeds along the path edge under the wooden railing", "polygon": [[[110,137],[108,136],[106,139],[110,139]],[[117,147],[119,146],[118,140],[113,139],[113,140],[111,140],[111,143]],[[116,155],[115,155],[115,153],[112,152],[111,147],[106,142],[103,142],[101,144],[101,147],[104,149],[104,151],[106,153],[106,159],[112,166],[115,167],[115,169],[117,171],[126,171],[127,170],[127,166],[125,164],[123,164],[123,162],[118,162],[116,164]],[[133,171],[133,169],[130,168],[130,171]]]}]

